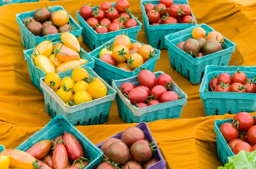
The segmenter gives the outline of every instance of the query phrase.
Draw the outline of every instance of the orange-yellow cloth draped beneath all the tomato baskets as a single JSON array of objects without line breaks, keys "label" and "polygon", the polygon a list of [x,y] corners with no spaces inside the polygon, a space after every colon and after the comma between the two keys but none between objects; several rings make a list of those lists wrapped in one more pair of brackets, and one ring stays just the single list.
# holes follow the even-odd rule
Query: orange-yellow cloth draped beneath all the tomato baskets
[{"label": "orange-yellow cloth draped beneath all the tomato baskets", "polygon": [[[105,0],[87,0],[87,4],[99,5]],[[113,2],[113,0],[110,0]],[[132,13],[142,22],[139,0],[128,0]],[[0,144],[15,148],[33,133],[44,127],[50,117],[45,112],[44,96],[31,83],[28,65],[24,61],[20,32],[15,14],[40,7],[60,5],[76,10],[84,0],[65,0],[39,3],[20,3],[0,7]],[[236,42],[236,51],[230,65],[256,65],[256,0],[189,0],[198,23],[206,23]],[[145,32],[137,40],[148,43]],[[79,37],[81,47],[89,52]],[[233,115],[204,117],[203,102],[198,85],[192,85],[169,64],[167,50],[161,50],[155,71],[162,70],[172,76],[177,85],[188,95],[183,107],[182,119],[160,120],[148,126],[166,160],[167,169],[215,169],[221,165],[216,151],[214,120],[232,118]],[[254,113],[254,115],[256,115]],[[135,124],[123,124],[117,113],[116,102],[111,107],[107,124],[78,126],[77,128],[94,144]]]}]

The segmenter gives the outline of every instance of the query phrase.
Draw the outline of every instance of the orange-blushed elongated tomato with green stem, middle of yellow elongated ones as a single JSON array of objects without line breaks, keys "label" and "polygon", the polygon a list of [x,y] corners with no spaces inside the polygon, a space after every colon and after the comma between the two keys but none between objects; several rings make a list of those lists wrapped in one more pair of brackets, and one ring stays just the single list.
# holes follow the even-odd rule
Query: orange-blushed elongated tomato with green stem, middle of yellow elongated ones
[{"label": "orange-blushed elongated tomato with green stem, middle of yellow elongated ones", "polygon": [[57,45],[53,52],[55,57],[61,62],[80,59],[79,53],[73,49],[68,48],[66,45]]}]

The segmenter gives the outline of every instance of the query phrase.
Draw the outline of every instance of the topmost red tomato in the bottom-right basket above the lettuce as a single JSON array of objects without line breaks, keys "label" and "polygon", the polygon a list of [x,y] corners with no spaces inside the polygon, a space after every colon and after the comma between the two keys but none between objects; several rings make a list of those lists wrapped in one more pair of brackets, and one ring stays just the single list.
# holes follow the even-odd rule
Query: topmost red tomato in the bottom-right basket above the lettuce
[{"label": "topmost red tomato in the bottom-right basket above the lettuce", "polygon": [[247,112],[237,113],[234,117],[234,120],[239,121],[239,130],[247,131],[254,124],[254,118]]}]

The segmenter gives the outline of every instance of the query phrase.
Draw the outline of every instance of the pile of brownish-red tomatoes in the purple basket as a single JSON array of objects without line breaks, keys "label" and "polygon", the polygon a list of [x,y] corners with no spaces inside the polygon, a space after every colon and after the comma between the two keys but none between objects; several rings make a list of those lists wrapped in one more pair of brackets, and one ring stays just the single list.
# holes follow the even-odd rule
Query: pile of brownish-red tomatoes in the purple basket
[{"label": "pile of brownish-red tomatoes in the purple basket", "polygon": [[108,138],[100,147],[106,159],[97,169],[148,169],[153,166],[159,161],[153,155],[156,145],[146,139],[137,127],[128,127],[121,139]]}]

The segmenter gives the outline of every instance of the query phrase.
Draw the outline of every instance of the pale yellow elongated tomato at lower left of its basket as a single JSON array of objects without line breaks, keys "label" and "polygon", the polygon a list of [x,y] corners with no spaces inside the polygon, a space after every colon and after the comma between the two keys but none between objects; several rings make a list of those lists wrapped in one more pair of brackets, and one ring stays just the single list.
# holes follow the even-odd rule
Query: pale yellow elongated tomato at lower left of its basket
[{"label": "pale yellow elongated tomato at lower left of its basket", "polygon": [[55,73],[55,67],[52,61],[44,55],[38,55],[35,57],[35,65],[43,70],[45,74]]}]

